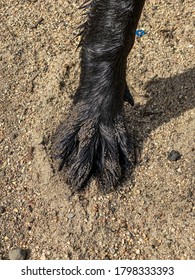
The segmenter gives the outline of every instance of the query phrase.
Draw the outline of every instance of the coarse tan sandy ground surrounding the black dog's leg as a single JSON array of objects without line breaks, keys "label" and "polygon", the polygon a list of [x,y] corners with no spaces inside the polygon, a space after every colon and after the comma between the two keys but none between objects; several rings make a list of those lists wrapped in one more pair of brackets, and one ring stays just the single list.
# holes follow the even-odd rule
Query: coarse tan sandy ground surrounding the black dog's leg
[{"label": "coarse tan sandy ground surrounding the black dog's leg", "polygon": [[125,105],[140,163],[115,192],[72,195],[49,155],[78,86],[82,1],[0,1],[0,258],[195,258],[194,1],[146,2]]}]

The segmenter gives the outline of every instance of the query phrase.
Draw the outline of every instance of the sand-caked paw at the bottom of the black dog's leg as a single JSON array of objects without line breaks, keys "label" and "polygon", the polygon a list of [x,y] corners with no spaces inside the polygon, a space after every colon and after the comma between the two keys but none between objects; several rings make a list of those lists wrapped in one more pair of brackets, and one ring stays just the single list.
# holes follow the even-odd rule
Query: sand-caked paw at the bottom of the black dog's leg
[{"label": "sand-caked paw at the bottom of the black dog's leg", "polygon": [[135,162],[123,116],[102,121],[86,112],[75,106],[60,133],[59,170],[65,170],[67,183],[75,190],[85,187],[91,176],[102,189],[116,187]]}]

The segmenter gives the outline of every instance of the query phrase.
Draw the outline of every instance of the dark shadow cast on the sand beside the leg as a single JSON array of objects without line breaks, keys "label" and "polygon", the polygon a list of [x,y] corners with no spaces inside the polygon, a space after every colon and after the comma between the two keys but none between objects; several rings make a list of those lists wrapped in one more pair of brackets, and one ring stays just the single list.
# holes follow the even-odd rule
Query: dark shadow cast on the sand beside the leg
[{"label": "dark shadow cast on the sand beside the leg", "polygon": [[152,79],[145,85],[145,98],[145,105],[126,109],[129,131],[133,127],[140,151],[151,131],[195,107],[195,68]]}]

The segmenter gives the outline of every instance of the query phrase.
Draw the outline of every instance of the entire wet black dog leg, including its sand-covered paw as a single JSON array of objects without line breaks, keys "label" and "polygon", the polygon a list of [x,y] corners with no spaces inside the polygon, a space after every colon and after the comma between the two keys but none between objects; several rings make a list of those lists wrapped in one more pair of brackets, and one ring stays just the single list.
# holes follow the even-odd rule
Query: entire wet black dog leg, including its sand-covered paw
[{"label": "entire wet black dog leg, including its sand-covered paw", "polygon": [[133,105],[126,85],[127,56],[144,0],[93,0],[81,26],[81,75],[73,107],[60,132],[60,170],[74,189],[91,175],[101,187],[117,185],[134,165],[133,141],[128,135],[123,103]]}]

